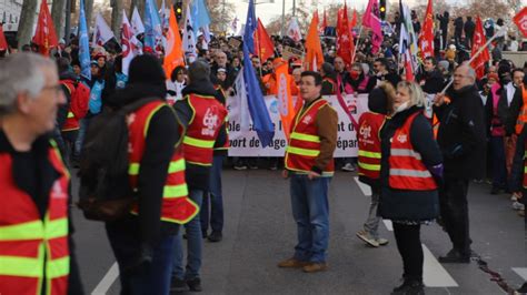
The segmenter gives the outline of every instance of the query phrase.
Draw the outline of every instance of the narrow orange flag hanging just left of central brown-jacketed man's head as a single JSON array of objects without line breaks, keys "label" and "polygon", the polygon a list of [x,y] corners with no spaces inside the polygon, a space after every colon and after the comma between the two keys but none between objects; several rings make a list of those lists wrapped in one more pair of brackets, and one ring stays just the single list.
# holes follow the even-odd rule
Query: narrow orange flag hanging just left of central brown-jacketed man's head
[{"label": "narrow orange flag hanging just left of central brown-jacketed man's head", "polygon": [[289,67],[287,62],[281,63],[275,69],[278,84],[278,110],[280,112],[281,125],[286,139],[289,141],[289,132],[292,120],[295,119],[295,108],[292,106],[291,77],[289,75]]}]

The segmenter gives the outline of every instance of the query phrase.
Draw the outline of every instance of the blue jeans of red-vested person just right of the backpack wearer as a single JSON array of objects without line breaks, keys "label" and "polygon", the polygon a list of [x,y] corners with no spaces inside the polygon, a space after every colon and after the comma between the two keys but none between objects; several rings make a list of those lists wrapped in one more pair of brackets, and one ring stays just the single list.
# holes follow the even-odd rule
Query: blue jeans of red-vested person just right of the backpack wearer
[{"label": "blue jeans of red-vested person just right of the backpack wearer", "polygon": [[[189,197],[201,207],[203,191],[190,190]],[[201,268],[201,252],[203,247],[203,237],[199,214],[185,225],[187,233],[187,267],[183,268],[183,245],[181,231],[176,238],[176,256],[173,258],[172,276],[179,279],[191,279],[199,277]]]}]

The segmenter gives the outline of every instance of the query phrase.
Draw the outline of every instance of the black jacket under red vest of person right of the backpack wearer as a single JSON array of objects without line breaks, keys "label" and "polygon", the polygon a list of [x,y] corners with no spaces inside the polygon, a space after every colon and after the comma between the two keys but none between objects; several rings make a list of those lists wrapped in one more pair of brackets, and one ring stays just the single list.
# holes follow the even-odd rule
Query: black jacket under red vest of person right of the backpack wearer
[{"label": "black jacket under red vest of person right of the backpack wearer", "polygon": [[[182,90],[181,94],[185,96],[190,93],[215,96],[218,101],[221,102],[218,92],[209,80],[191,81],[190,84],[188,84]],[[176,103],[173,104],[173,109],[176,110],[179,121],[187,129],[193,115],[193,110],[192,108],[190,108],[188,100],[183,99],[176,101]],[[226,140],[227,129],[225,126],[221,126],[218,133],[218,138],[216,139],[215,148],[223,146]],[[187,163],[186,179],[190,190],[208,191],[209,176],[210,167]]]}]

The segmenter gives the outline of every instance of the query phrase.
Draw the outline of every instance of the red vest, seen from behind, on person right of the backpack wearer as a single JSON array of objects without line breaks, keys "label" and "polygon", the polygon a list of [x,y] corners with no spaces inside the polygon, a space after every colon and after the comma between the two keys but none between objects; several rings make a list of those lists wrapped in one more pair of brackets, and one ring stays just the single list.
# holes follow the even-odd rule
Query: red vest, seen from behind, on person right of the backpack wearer
[{"label": "red vest, seen from behind, on person right of the backpack wearer", "polygon": [[193,110],[183,139],[185,160],[191,164],[210,166],[216,138],[227,110],[215,96],[189,94],[185,99]]}]

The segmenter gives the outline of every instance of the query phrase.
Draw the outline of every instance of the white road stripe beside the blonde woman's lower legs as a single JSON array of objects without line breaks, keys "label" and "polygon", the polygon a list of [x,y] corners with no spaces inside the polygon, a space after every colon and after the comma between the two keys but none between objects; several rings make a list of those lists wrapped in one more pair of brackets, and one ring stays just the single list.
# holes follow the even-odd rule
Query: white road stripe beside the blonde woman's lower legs
[{"label": "white road stripe beside the blonde woman's lower legs", "polygon": [[422,244],[425,263],[422,265],[422,281],[427,287],[458,287],[459,285],[436,260],[425,244]]}]

